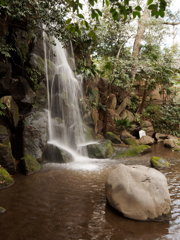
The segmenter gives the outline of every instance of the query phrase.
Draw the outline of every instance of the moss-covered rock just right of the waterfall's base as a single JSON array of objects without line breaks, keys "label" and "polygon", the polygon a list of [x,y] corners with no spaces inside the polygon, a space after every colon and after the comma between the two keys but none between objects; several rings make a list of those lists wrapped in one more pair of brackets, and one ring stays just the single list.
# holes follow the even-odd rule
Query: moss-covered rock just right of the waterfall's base
[{"label": "moss-covered rock just right of the waterfall's base", "polygon": [[88,155],[90,158],[107,158],[112,156],[114,147],[110,140],[102,140],[97,144],[87,146]]}]

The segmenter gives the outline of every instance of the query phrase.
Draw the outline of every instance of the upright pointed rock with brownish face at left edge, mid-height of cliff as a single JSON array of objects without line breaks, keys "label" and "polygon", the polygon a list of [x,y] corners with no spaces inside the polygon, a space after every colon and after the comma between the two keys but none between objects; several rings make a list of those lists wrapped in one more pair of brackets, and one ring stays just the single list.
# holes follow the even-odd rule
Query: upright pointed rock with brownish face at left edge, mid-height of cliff
[{"label": "upright pointed rock with brownish face at left edge, mid-height of cliff", "polygon": [[8,118],[11,127],[17,127],[19,122],[19,109],[16,102],[13,100],[12,96],[2,97],[1,101],[6,106],[3,112]]}]

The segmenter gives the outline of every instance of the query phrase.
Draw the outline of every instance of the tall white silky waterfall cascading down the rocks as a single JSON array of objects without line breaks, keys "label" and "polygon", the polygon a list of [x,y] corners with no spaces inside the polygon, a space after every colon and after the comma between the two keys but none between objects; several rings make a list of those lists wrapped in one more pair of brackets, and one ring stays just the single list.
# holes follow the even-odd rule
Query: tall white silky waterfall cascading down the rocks
[{"label": "tall white silky waterfall cascading down the rocks", "polygon": [[[82,81],[73,72],[75,69],[73,51],[69,54],[57,39],[54,39],[54,42],[55,45],[48,50],[47,42],[44,40],[48,92],[48,142],[70,153],[87,156],[84,146],[86,145],[84,125],[78,104],[78,99],[83,97]],[[48,72],[48,64],[52,64],[49,59],[54,63],[53,75]]]}]

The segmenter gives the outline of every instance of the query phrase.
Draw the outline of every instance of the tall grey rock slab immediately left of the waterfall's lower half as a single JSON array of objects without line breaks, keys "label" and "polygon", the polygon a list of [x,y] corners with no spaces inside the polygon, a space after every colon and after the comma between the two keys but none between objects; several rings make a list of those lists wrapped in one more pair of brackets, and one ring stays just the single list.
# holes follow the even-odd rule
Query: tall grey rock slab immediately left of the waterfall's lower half
[{"label": "tall grey rock slab immediately left of the waterfall's lower half", "polygon": [[23,153],[40,160],[48,138],[47,112],[32,112],[24,119],[23,124]]}]

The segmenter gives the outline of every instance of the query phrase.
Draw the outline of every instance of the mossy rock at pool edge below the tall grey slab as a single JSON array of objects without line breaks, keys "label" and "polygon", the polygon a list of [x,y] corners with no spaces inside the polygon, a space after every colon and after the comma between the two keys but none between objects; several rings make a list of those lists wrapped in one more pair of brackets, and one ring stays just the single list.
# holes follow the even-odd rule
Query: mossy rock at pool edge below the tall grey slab
[{"label": "mossy rock at pool edge below the tall grey slab", "polygon": [[41,165],[30,154],[26,154],[21,158],[20,168],[26,175],[30,175],[39,171],[41,169]]}]

